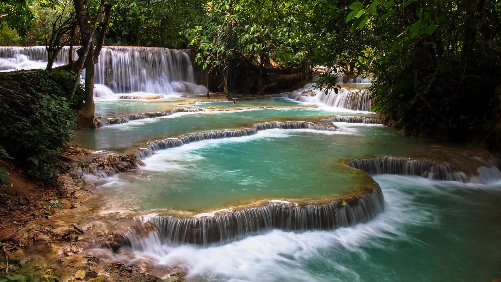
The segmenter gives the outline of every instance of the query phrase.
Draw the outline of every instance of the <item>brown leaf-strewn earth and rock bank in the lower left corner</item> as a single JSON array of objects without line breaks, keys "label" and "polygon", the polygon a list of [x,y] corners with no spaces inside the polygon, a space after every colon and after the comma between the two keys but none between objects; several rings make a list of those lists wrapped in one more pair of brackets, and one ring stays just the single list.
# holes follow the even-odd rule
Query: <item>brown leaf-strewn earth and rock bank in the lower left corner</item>
[{"label": "brown leaf-strewn earth and rock bank in the lower left corner", "polygon": [[[6,255],[16,273],[63,281],[73,280],[82,269],[89,274],[96,271],[98,277],[113,277],[103,268],[109,262],[87,249],[119,247],[120,234],[131,227],[144,230],[144,224],[96,213],[98,207],[87,204],[97,196],[91,191],[93,185],[71,174],[60,175],[58,185],[47,185],[30,180],[12,163],[1,162],[0,166],[10,173],[13,183],[1,196],[0,241],[6,243]],[[112,280],[124,281],[119,277]]]}]

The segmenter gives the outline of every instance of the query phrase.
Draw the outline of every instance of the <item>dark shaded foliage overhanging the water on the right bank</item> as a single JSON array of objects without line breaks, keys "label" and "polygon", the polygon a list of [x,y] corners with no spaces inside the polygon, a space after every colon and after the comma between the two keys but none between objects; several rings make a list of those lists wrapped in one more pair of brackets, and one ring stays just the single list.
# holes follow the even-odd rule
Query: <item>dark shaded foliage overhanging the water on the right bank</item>
[{"label": "dark shaded foliage overhanging the water on the right bank", "polygon": [[362,52],[347,59],[373,73],[374,110],[414,135],[499,143],[499,2],[372,0],[348,9]]}]

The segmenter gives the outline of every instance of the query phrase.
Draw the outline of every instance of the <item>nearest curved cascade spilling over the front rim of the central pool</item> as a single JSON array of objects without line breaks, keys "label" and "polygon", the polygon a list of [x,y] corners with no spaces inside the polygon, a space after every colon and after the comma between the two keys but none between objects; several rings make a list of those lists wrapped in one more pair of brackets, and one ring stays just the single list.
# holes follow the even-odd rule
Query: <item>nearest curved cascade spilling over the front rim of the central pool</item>
[{"label": "nearest curved cascade spilling over the front rim of the central pool", "polygon": [[[207,245],[263,234],[272,229],[332,230],[367,222],[383,210],[383,193],[375,183],[372,192],[359,198],[337,200],[328,204],[298,205],[271,201],[262,207],[229,211],[220,215],[206,213],[190,218],[157,216],[151,222],[156,225],[161,242]],[[126,235],[126,238],[134,250],[144,250],[147,247],[133,232]]]}]

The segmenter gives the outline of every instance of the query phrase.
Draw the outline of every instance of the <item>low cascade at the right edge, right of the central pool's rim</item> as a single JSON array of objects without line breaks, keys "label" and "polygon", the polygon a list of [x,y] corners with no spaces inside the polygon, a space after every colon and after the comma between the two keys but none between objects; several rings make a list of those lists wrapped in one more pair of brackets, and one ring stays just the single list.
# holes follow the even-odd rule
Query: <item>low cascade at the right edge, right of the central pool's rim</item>
[{"label": "low cascade at the right edge, right of the central pool's rim", "polygon": [[403,157],[377,156],[350,159],[346,162],[351,167],[369,174],[416,175],[433,180],[450,180],[463,183],[489,184],[501,179],[501,171],[492,165],[498,160],[485,163],[477,168],[477,175],[469,177],[464,172],[453,171],[450,163],[430,160],[409,159]]}]

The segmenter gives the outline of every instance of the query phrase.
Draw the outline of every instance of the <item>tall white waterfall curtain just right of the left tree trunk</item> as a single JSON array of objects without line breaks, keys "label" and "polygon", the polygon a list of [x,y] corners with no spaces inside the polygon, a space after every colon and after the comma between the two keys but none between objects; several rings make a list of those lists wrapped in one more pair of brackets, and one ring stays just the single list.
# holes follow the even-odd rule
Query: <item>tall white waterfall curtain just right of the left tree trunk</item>
[{"label": "tall white waterfall curtain just right of the left tree trunk", "polygon": [[193,66],[183,51],[159,47],[103,47],[96,64],[96,83],[115,93],[202,94]]}]

